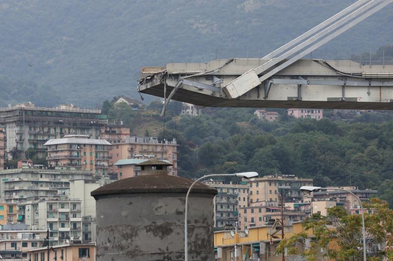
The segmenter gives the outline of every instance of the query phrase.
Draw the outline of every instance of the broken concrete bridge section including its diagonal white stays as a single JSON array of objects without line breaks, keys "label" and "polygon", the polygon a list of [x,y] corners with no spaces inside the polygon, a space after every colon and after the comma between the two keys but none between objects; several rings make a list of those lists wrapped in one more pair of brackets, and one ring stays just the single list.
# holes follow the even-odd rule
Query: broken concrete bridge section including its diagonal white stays
[{"label": "broken concrete bridge section including its diagonal white stays", "polygon": [[359,0],[263,58],[142,67],[138,91],[208,107],[393,109],[393,64],[301,59],[393,0]]}]

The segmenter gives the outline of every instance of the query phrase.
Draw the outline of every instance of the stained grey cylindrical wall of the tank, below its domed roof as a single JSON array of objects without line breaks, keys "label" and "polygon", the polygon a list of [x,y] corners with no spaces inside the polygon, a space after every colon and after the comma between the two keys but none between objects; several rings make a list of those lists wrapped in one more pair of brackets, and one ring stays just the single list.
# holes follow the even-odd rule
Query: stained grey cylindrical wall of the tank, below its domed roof
[{"label": "stained grey cylindrical wall of the tank, below its domed roof", "polygon": [[[190,261],[214,260],[212,196],[189,199]],[[183,193],[97,197],[97,261],[184,261]]]}]

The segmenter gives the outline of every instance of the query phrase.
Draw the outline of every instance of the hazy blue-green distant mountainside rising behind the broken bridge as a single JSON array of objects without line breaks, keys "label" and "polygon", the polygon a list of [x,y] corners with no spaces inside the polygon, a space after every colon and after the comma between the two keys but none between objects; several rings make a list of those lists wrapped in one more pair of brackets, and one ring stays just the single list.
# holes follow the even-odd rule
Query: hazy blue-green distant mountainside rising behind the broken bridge
[{"label": "hazy blue-green distant mountainside rising behind the broken bridge", "polygon": [[[262,56],[354,1],[2,0],[0,76],[34,82],[39,94],[51,89],[45,100],[26,91],[0,105],[54,105],[56,95],[79,106],[120,94],[137,98],[141,66]],[[313,58],[349,58],[350,50],[391,45],[392,13],[390,5]]]}]

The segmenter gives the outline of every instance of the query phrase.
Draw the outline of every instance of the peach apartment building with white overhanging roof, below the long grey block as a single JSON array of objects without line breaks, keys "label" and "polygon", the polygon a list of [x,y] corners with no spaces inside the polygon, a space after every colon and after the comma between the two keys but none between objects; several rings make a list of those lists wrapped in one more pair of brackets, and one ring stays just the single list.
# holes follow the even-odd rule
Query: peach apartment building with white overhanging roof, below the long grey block
[{"label": "peach apartment building with white overhanging roof, below the long grey block", "polygon": [[44,144],[48,149],[48,166],[69,167],[103,175],[109,172],[111,144],[106,140],[89,139],[86,135],[65,135]]}]

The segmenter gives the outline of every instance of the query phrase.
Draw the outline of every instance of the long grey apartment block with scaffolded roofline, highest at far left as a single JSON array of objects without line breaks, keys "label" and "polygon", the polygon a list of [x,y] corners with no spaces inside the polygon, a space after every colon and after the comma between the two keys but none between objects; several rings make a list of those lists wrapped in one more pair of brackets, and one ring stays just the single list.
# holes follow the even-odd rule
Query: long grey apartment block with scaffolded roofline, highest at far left
[{"label": "long grey apartment block with scaffolded roofline, highest at far left", "polygon": [[34,148],[44,156],[44,144],[64,135],[88,135],[98,139],[102,127],[107,124],[107,116],[100,110],[79,109],[73,105],[46,108],[28,102],[0,108],[0,125],[5,126],[8,157],[13,149],[24,157],[23,152],[28,148]]}]

